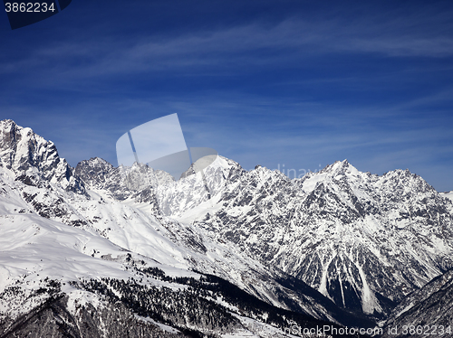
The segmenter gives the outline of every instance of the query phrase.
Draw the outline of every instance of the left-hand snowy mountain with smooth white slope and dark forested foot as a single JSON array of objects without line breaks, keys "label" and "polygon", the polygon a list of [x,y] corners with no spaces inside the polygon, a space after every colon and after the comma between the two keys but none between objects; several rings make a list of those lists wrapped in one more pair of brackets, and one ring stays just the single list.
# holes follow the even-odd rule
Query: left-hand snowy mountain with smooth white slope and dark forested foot
[{"label": "left-hand snowy mountain with smooth white slope and dark forested foot", "polygon": [[197,175],[166,194],[176,183],[142,165],[92,159],[74,170],[31,129],[1,123],[0,336],[270,337],[294,324],[372,325],[167,216],[212,202],[204,186],[180,195]]}]

